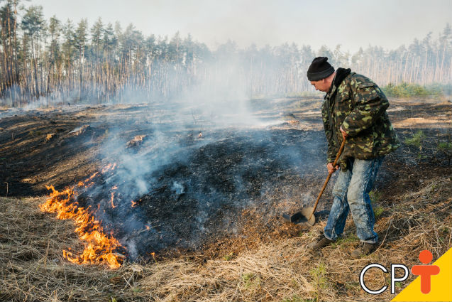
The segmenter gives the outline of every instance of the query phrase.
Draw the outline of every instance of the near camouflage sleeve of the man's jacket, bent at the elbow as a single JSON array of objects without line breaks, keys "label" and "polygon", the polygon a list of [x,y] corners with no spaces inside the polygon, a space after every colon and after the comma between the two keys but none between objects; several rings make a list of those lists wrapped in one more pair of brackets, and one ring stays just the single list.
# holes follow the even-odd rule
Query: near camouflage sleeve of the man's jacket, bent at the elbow
[{"label": "near camouflage sleeve of the man's jacket, bent at the elbow", "polygon": [[342,128],[346,134],[356,136],[372,126],[390,104],[380,88],[367,77],[357,77],[350,84],[354,106]]}]

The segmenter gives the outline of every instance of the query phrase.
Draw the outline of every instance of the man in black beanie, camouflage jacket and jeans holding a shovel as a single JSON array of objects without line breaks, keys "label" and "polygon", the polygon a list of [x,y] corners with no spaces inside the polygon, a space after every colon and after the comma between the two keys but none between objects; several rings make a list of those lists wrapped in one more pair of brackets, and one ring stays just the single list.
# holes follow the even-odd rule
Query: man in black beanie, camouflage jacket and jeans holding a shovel
[{"label": "man in black beanie, camouflage jacket and jeans holding a shovel", "polygon": [[[386,113],[389,102],[368,77],[350,69],[335,72],[326,57],[312,61],[307,77],[316,90],[326,92],[321,110],[328,141],[326,167],[330,173],[340,168],[324,235],[309,247],[319,250],[336,241],[350,210],[361,242],[351,256],[362,257],[375,251],[378,242],[369,192],[384,156],[400,146]],[[343,139],[346,144],[339,164],[333,166]]]}]

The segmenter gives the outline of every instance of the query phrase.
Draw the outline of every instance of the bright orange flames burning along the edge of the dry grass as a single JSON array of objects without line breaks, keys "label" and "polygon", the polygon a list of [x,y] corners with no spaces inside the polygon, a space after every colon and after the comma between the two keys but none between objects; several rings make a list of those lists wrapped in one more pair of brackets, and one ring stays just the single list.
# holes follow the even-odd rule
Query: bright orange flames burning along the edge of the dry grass
[{"label": "bright orange flames burning along the edge of the dry grass", "polygon": [[[85,183],[92,180],[97,173],[87,178]],[[116,248],[121,247],[118,240],[114,238],[113,234],[105,234],[103,227],[98,220],[89,212],[89,207],[79,207],[77,202],[71,203],[71,200],[75,196],[74,188],[67,188],[66,190],[59,192],[55,190],[53,185],[46,186],[48,190],[52,190],[49,198],[45,203],[39,205],[40,210],[43,212],[55,212],[57,213],[57,219],[72,219],[75,221],[75,232],[79,235],[79,238],[84,242],[84,251],[80,255],[74,255],[72,252],[63,250],[63,257],[75,264],[108,264],[110,269],[118,269],[123,261],[123,256],[116,254],[114,251]],[[113,198],[113,192],[111,193]],[[113,199],[111,200],[113,205]],[[113,205],[114,206],[114,205]],[[98,205],[99,208],[99,205]]]}]

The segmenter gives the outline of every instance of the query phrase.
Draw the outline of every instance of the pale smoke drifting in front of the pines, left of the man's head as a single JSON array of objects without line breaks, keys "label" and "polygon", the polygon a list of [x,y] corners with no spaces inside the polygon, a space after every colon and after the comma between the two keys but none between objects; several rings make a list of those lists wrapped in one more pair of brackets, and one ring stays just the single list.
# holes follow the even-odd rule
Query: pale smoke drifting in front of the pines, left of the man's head
[{"label": "pale smoke drifting in front of the pines, left of the man's head", "polygon": [[[211,52],[202,43],[182,41],[178,36],[174,39],[170,43],[166,39],[158,41],[144,54],[136,53],[131,45],[123,45],[130,48],[132,57],[143,56],[139,62],[132,61],[132,57],[119,63],[110,62],[110,57],[91,56],[77,63],[84,68],[76,68],[59,78],[58,85],[49,85],[46,82],[49,79],[41,77],[37,83],[33,79],[26,82],[27,87],[13,85],[1,92],[0,104],[35,109],[74,104],[187,102],[190,99],[211,107],[212,102],[219,104],[226,100],[285,95],[310,89],[304,78],[304,66],[295,64],[299,55],[298,50],[292,48],[296,46],[239,50],[235,43],[228,42]],[[109,70],[104,70],[105,60],[112,65]],[[112,70],[118,70],[119,74],[111,73]],[[40,87],[40,95],[34,95],[34,85]],[[235,106],[241,106],[241,103],[229,103],[229,107],[224,108]]]}]

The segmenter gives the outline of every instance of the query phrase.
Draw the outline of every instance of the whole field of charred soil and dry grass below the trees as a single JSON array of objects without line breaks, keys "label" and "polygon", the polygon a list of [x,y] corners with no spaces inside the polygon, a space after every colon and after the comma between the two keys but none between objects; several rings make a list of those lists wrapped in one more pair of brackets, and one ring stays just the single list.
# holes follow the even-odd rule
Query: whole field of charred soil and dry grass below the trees
[{"label": "whole field of charred soil and dry grass below the trees", "polygon": [[[348,255],[358,239],[351,217],[343,241],[322,259],[305,248],[325,225],[334,178],[311,230],[281,219],[312,205],[326,178],[321,101],[255,99],[220,110],[178,103],[4,110],[0,297],[389,298],[360,290],[355,279],[365,263],[416,263],[421,249],[438,256],[451,247],[452,103],[391,100],[388,113],[402,148],[387,156],[373,191],[382,246],[353,261]],[[117,271],[62,257],[63,250],[82,254],[87,245],[72,220],[40,212],[46,185],[70,188],[67,203],[87,209],[118,240]],[[326,272],[317,276],[321,267]],[[380,287],[384,276],[371,277]]]}]

